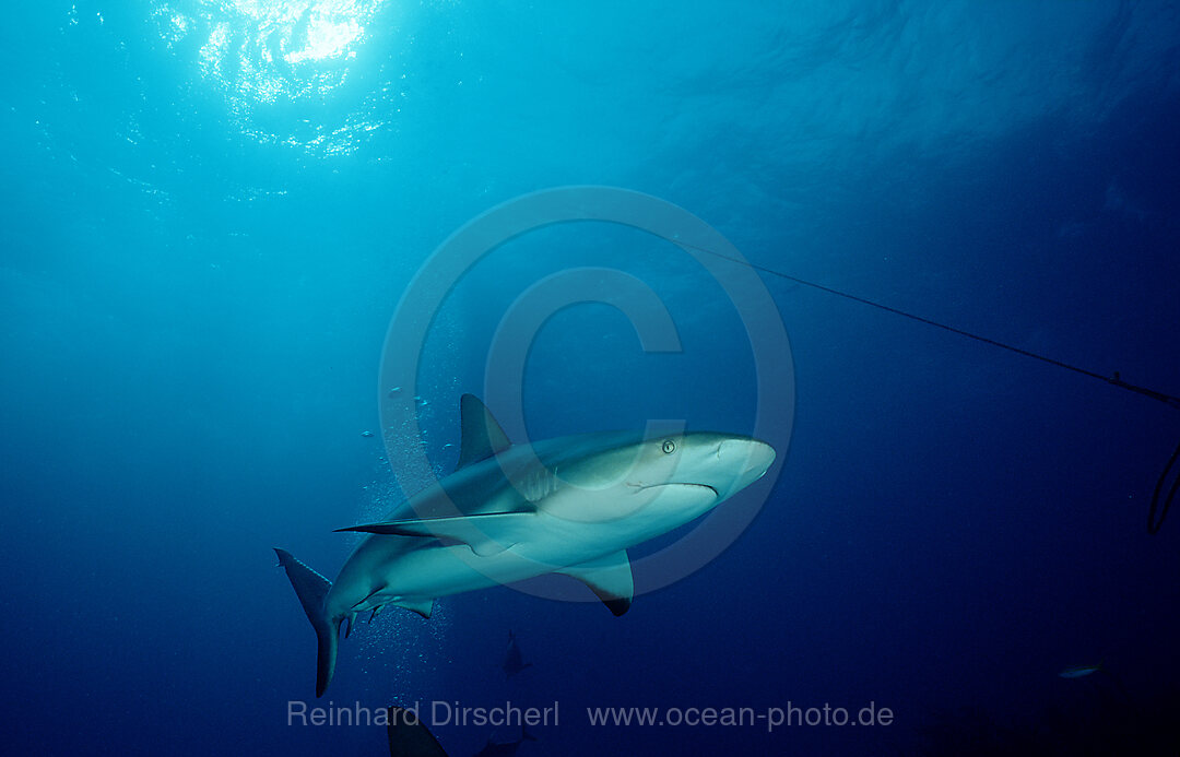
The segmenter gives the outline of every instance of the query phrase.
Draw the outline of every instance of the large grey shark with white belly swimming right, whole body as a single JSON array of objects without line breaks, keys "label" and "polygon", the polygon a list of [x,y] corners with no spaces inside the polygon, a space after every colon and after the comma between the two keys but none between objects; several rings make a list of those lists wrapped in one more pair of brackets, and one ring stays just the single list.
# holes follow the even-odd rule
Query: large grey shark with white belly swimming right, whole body
[{"label": "large grey shark with white belly swimming right, whole body", "polygon": [[385,607],[430,618],[434,601],[558,573],[614,613],[631,606],[628,549],[683,526],[762,478],[774,448],[715,432],[595,432],[513,445],[484,403],[459,403],[459,461],[365,539],[335,581],[275,548],[315,630],[316,683],[332,682],[341,630]]}]

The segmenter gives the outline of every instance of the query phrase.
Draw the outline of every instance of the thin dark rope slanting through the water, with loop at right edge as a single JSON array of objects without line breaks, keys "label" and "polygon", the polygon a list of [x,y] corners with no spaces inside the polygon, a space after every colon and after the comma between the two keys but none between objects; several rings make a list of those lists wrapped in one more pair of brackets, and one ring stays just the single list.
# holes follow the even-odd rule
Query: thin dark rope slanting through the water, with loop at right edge
[{"label": "thin dark rope slanting through the water, with loop at right edge", "polygon": [[[712,255],[714,257],[719,257],[719,258],[721,258],[723,261],[729,261],[730,263],[736,263],[739,265],[745,265],[747,268],[752,268],[755,271],[760,271],[760,272],[767,274],[769,276],[775,276],[778,278],[782,278],[782,279],[786,279],[786,281],[789,281],[789,282],[794,282],[795,284],[801,284],[804,287],[808,287],[811,289],[817,289],[819,291],[827,292],[830,295],[835,295],[837,297],[843,297],[844,299],[851,299],[852,302],[858,302],[858,303],[860,303],[863,305],[868,305],[871,308],[877,308],[878,310],[884,310],[885,312],[892,312],[893,315],[902,316],[903,318],[910,318],[911,321],[917,321],[918,323],[925,323],[926,325],[932,325],[935,328],[943,329],[944,331],[950,331],[951,334],[956,334],[958,336],[963,336],[963,337],[966,337],[969,340],[975,340],[976,342],[983,342],[984,344],[991,344],[992,347],[998,347],[998,348],[1005,349],[1005,350],[1008,350],[1010,353],[1015,353],[1017,355],[1023,355],[1024,357],[1031,357],[1032,360],[1038,360],[1038,361],[1041,361],[1043,363],[1049,363],[1050,366],[1056,366],[1057,368],[1064,368],[1066,370],[1071,370],[1075,374],[1081,374],[1082,376],[1089,376],[1090,378],[1097,378],[1099,381],[1101,381],[1103,383],[1110,384],[1113,387],[1117,387],[1120,389],[1125,389],[1127,391],[1134,391],[1135,394],[1142,395],[1145,397],[1150,397],[1152,400],[1155,400],[1156,402],[1162,402],[1163,404],[1167,404],[1171,408],[1180,410],[1180,397],[1175,397],[1175,396],[1173,396],[1171,394],[1165,394],[1163,391],[1156,391],[1154,389],[1148,389],[1147,387],[1140,387],[1138,384],[1128,383],[1128,382],[1126,382],[1126,381],[1122,380],[1122,377],[1119,375],[1117,370],[1114,371],[1113,376],[1103,376],[1100,373],[1096,373],[1096,371],[1093,371],[1093,370],[1087,370],[1086,368],[1080,368],[1079,366],[1073,366],[1070,363],[1062,362],[1060,360],[1054,360],[1053,357],[1048,357],[1045,355],[1041,355],[1041,354],[1034,353],[1031,350],[1022,349],[1022,348],[1015,347],[1012,344],[1007,344],[1004,342],[999,342],[999,341],[989,338],[986,336],[981,336],[978,334],[972,334],[971,331],[964,331],[963,329],[958,329],[958,328],[955,328],[952,325],[948,325],[945,323],[940,323],[938,321],[933,321],[931,318],[925,318],[923,316],[914,315],[912,312],[906,312],[905,310],[898,310],[897,308],[891,308],[890,305],[881,304],[881,303],[874,302],[872,299],[866,299],[865,297],[858,297],[857,295],[852,295],[852,294],[848,294],[846,291],[840,291],[839,289],[833,289],[831,287],[825,287],[822,284],[817,284],[815,282],[809,282],[809,281],[807,281],[805,278],[799,278],[798,276],[792,276],[789,274],[784,274],[782,271],[774,270],[773,268],[767,268],[765,265],[759,265],[758,263],[750,263],[749,261],[741,261],[741,259],[738,259],[738,258],[734,258],[734,257],[729,257],[728,255],[722,255],[721,252],[717,252],[715,250],[709,250],[707,248],[696,246],[695,244],[689,244],[689,243],[682,242],[680,239],[669,239],[669,242],[671,242],[674,244],[678,244],[681,246],[691,248],[691,249],[697,250],[700,252],[704,252],[707,255]],[[1148,509],[1148,513],[1147,513],[1147,533],[1149,533],[1149,534],[1154,535],[1154,534],[1159,533],[1160,527],[1163,526],[1163,519],[1167,518],[1167,515],[1168,515],[1168,508],[1172,507],[1172,501],[1175,499],[1176,492],[1180,491],[1180,469],[1178,469],[1175,472],[1175,474],[1176,474],[1175,478],[1172,480],[1172,486],[1167,487],[1167,491],[1168,491],[1167,496],[1160,499],[1160,494],[1165,489],[1167,479],[1171,475],[1173,475],[1173,468],[1175,467],[1175,463],[1176,463],[1178,459],[1180,459],[1180,445],[1176,445],[1175,452],[1172,453],[1172,458],[1168,460],[1168,463],[1166,466],[1163,466],[1163,472],[1160,473],[1159,481],[1156,481],[1156,483],[1155,483],[1155,492],[1152,494],[1152,505],[1150,505],[1150,508]],[[1156,515],[1156,513],[1159,513],[1159,515]]]}]

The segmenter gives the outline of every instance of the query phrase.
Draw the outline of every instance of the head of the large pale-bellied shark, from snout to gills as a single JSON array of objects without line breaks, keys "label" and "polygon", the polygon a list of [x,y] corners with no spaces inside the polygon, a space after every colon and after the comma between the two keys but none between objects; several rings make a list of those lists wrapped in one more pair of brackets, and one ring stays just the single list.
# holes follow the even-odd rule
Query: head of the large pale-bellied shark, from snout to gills
[{"label": "head of the large pale-bellied shark, from snout to gills", "polygon": [[559,491],[539,505],[575,521],[627,520],[642,533],[663,532],[716,507],[762,478],[773,462],[773,447],[733,434],[614,441],[559,466]]}]

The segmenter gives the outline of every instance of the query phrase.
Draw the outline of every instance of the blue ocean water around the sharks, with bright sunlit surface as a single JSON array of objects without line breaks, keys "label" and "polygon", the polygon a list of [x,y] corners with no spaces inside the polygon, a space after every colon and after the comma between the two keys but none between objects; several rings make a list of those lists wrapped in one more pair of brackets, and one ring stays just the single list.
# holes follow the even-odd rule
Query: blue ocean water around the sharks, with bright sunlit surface
[{"label": "blue ocean water around the sharks, with bright sunlit surface", "polygon": [[[655,196],[759,266],[1180,394],[1174,4],[47,0],[5,17],[11,753],[386,753],[380,728],[288,723],[291,702],[327,700],[559,703],[522,757],[964,738],[1053,753],[1106,743],[1093,729],[1134,753],[1153,713],[1174,716],[1180,524],[1145,528],[1172,409],[767,272],[793,373],[759,386],[745,296],[609,223],[526,233],[458,282],[422,350],[422,441],[453,466],[459,396],[485,393],[523,292],[623,271],[682,350],[644,351],[618,307],[562,309],[505,426],[752,433],[794,391],[793,423],[759,429],[773,488],[727,549],[622,618],[506,587],[428,621],[391,608],[342,641],[319,703],[271,552],[332,578],[356,544],[332,529],[413,487],[388,456],[414,440],[379,415],[391,317],[452,232],[551,187]],[[533,666],[505,680],[510,631]],[[1100,660],[1106,678],[1057,674]],[[825,705],[893,717],[586,712]],[[452,755],[519,736],[434,730]]]}]

